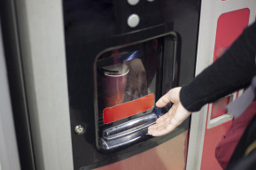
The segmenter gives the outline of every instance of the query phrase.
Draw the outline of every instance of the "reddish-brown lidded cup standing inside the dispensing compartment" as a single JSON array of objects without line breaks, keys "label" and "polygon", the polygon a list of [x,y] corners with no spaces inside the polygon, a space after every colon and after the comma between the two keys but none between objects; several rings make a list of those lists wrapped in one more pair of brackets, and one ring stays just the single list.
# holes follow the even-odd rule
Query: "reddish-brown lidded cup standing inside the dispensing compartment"
[{"label": "reddish-brown lidded cup standing inside the dispensing compartment", "polygon": [[128,77],[128,66],[117,64],[103,67],[102,85],[105,107],[122,104]]}]

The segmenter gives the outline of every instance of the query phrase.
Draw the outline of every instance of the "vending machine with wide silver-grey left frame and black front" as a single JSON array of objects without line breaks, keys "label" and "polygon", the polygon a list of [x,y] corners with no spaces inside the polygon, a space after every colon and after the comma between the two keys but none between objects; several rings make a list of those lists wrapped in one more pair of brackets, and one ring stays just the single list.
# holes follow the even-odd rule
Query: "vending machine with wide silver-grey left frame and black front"
[{"label": "vending machine with wide silver-grey left frame and black front", "polygon": [[147,128],[191,81],[199,0],[2,1],[22,169],[184,169],[190,119]]}]

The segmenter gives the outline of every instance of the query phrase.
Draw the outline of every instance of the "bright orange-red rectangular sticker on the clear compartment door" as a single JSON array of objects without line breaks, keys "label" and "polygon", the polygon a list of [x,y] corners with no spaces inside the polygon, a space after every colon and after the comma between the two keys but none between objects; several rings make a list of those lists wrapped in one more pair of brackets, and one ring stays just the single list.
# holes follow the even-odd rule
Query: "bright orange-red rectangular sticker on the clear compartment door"
[{"label": "bright orange-red rectangular sticker on the clear compartment door", "polygon": [[139,112],[150,110],[155,104],[155,95],[152,93],[136,100],[105,108],[103,111],[104,123],[121,120]]}]

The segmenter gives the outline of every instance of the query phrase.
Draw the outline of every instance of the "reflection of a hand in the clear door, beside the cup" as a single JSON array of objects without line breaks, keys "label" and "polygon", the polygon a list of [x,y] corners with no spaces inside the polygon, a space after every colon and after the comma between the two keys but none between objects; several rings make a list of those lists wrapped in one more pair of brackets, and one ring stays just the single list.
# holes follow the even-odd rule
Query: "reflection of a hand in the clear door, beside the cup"
[{"label": "reflection of a hand in the clear door, beside the cup", "polygon": [[147,95],[147,79],[144,64],[140,58],[125,63],[129,67],[128,73],[128,101]]}]

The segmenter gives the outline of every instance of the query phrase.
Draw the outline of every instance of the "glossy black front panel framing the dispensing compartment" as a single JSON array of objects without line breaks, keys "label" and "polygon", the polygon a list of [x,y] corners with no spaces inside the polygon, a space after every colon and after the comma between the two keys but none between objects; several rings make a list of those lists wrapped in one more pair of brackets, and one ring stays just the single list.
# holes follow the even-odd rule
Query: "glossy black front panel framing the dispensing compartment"
[{"label": "glossy black front panel framing the dispensing compartment", "polygon": [[[160,61],[163,65],[158,71],[162,77],[157,83],[161,87],[158,94],[188,83],[194,75],[199,5],[198,0],[140,1],[136,6],[123,0],[63,1],[74,169],[91,169],[131,157],[189,128],[190,120],[186,120],[169,135],[150,137],[111,153],[98,151],[97,58],[108,50],[173,34],[175,39],[170,41],[172,44],[165,43],[166,50],[163,50],[163,55],[170,56],[166,62],[172,65],[168,67]],[[127,18],[132,13],[138,14],[141,19],[134,28],[127,25]],[[177,58],[174,58],[175,55]],[[174,66],[179,70],[176,74],[173,73]],[[165,77],[172,77],[173,80],[167,81]],[[166,86],[163,87],[162,83]],[[74,133],[76,125],[85,126],[82,135]]]}]

